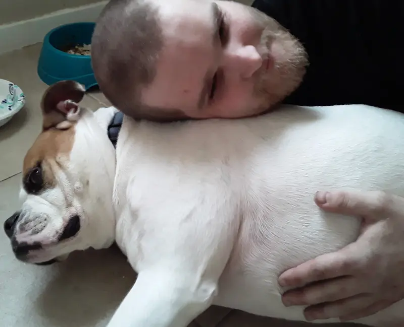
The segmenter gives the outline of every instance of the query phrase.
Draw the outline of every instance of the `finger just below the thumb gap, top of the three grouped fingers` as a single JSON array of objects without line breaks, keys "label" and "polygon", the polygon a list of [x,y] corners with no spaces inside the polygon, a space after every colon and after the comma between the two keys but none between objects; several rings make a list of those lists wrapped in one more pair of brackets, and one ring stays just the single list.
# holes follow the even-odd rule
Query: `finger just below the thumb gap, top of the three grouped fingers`
[{"label": "finger just below the thumb gap, top of the three grouped fingers", "polygon": [[313,282],[351,275],[356,267],[355,243],[342,250],[320,255],[312,260],[291,268],[279,276],[278,283],[282,287],[299,288]]}]

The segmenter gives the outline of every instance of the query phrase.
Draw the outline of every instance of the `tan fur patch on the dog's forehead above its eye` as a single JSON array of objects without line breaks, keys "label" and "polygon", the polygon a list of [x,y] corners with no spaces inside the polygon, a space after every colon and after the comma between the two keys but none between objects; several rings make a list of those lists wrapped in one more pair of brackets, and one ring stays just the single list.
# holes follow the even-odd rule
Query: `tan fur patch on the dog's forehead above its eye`
[{"label": "tan fur patch on the dog's forehead above its eye", "polygon": [[58,162],[59,158],[70,155],[74,143],[74,127],[66,130],[51,128],[44,130],[28,150],[23,163],[23,175],[38,163]]}]

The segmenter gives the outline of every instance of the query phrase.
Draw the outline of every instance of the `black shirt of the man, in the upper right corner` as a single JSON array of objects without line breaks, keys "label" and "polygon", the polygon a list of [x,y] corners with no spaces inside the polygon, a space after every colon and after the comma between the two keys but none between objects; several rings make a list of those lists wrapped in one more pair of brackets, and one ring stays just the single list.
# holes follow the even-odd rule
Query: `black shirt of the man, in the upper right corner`
[{"label": "black shirt of the man, in the upper right corner", "polygon": [[310,66],[285,102],[404,111],[403,0],[256,0],[306,47]]}]

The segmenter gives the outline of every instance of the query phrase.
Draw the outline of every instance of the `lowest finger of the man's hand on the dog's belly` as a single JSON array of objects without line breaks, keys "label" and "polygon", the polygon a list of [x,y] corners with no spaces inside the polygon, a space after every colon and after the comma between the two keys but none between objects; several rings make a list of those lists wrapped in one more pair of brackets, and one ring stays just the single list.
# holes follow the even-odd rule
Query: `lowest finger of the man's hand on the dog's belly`
[{"label": "lowest finger of the man's hand on the dog's belly", "polygon": [[367,294],[359,294],[329,303],[309,306],[305,309],[308,321],[338,318],[361,311],[372,305],[373,299]]}]

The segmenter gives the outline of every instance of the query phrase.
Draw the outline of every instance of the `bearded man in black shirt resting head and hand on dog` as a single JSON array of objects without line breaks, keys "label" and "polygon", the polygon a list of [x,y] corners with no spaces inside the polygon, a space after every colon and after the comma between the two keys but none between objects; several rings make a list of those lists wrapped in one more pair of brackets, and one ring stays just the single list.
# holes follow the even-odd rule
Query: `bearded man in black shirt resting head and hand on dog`
[{"label": "bearded man in black shirt resting head and hand on dog", "polygon": [[[396,40],[404,5],[385,3],[254,3],[299,41],[273,18],[233,2],[112,0],[94,31],[94,73],[121,111],[157,121],[251,116],[286,96],[299,105],[394,109],[402,104]],[[310,61],[306,76],[302,44]],[[324,210],[364,217],[363,233],[341,251],[280,276],[281,285],[306,286],[287,292],[285,304],[311,305],[309,320],[352,319],[404,298],[404,199],[333,192],[319,193],[316,202]]]}]

